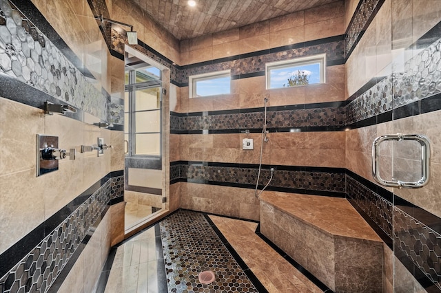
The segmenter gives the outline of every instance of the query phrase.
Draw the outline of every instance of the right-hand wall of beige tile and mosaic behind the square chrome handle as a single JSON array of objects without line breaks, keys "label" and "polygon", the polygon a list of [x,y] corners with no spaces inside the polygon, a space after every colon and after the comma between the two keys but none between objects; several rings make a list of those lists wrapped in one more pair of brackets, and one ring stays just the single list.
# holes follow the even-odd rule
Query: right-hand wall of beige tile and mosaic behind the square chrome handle
[{"label": "right-hand wall of beige tile and mosaic behind the square chrome handle", "polygon": [[[363,182],[348,177],[347,191],[362,212],[393,240],[390,247],[394,256],[387,259],[389,263],[393,259],[396,274],[387,285],[388,292],[404,292],[409,288],[418,291],[422,286],[429,292],[440,290],[437,254],[426,253],[438,246],[433,242],[439,237],[436,227],[441,215],[435,204],[439,195],[438,182],[431,181],[420,189],[402,190],[382,190],[374,184],[371,191],[363,191],[362,186],[353,190],[356,187],[353,184],[369,186],[374,182],[369,142],[390,133],[420,133],[433,140],[431,171],[438,174],[439,130],[433,125],[440,122],[439,81],[435,69],[440,20],[439,2],[386,0],[346,63],[347,93],[351,100],[346,108],[346,122],[358,127],[347,131],[346,164],[356,176],[367,179]],[[386,163],[382,171],[396,177],[409,173],[412,154],[416,151],[406,149],[404,154],[403,148],[395,145],[382,152],[382,162]],[[395,157],[401,157],[400,161],[396,159],[391,164],[392,152]],[[407,159],[402,160],[404,156]],[[404,204],[400,204],[403,199],[406,199]],[[396,205],[392,206],[391,202]],[[406,276],[405,281],[403,276]]]}]

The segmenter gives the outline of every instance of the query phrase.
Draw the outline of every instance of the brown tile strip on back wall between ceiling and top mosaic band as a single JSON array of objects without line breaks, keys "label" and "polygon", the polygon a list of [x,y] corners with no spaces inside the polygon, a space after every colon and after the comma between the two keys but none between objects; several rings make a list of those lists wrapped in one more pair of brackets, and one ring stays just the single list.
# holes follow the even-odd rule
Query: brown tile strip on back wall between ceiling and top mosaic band
[{"label": "brown tile strip on back wall between ceiling and top mosaic band", "polygon": [[243,28],[181,41],[181,65],[344,34],[344,8],[343,1],[336,1]]}]

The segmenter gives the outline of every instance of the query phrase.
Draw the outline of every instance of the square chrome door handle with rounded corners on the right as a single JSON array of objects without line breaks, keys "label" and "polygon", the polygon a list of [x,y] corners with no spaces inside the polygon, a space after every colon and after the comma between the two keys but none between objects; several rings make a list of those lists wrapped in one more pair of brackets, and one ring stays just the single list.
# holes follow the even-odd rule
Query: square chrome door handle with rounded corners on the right
[{"label": "square chrome door handle with rounded corners on the right", "polygon": [[[380,165],[378,164],[378,149],[382,142],[387,140],[396,140],[401,142],[403,140],[414,140],[421,145],[421,178],[416,182],[407,182],[402,180],[384,180],[380,176]],[[430,177],[430,141],[424,135],[421,134],[392,134],[382,135],[372,144],[372,175],[376,182],[389,187],[398,188],[421,188],[426,185]]]}]

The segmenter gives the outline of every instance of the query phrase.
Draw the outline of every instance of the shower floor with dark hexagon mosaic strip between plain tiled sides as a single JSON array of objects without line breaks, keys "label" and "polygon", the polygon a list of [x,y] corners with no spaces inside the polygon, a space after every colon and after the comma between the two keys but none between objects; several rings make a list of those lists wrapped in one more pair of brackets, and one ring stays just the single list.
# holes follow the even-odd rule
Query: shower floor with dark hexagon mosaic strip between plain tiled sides
[{"label": "shower floor with dark hexagon mosaic strip between plain tiled sides", "polygon": [[[322,292],[257,225],[180,210],[114,247],[96,292]],[[203,270],[216,280],[201,284]]]}]

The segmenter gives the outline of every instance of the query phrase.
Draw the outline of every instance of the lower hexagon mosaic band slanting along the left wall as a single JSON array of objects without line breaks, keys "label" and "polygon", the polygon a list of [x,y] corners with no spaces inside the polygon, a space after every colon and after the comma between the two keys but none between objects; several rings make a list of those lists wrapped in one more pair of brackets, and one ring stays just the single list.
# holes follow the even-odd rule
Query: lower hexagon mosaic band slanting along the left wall
[{"label": "lower hexagon mosaic band slanting along the left wall", "polygon": [[107,180],[8,274],[2,276],[2,292],[48,292],[76,248],[86,235],[91,234],[94,223],[110,201],[111,188],[112,180]]}]

